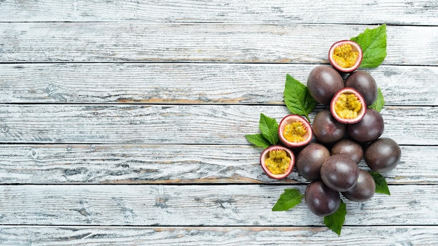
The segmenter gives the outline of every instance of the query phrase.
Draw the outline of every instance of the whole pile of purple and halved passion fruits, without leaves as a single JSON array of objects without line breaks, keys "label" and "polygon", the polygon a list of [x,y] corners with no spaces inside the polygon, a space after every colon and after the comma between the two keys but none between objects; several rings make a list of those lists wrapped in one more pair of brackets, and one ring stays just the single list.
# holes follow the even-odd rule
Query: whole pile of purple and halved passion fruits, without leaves
[{"label": "whole pile of purple and halved passion fruits, without leaves", "polygon": [[[358,166],[362,159],[371,171],[387,173],[401,157],[395,140],[380,138],[382,115],[367,107],[376,101],[378,87],[372,75],[357,70],[362,60],[360,45],[353,41],[334,43],[329,60],[331,65],[313,68],[307,88],[313,99],[330,109],[320,110],[312,125],[299,115],[285,116],[278,125],[282,145],[268,147],[260,157],[270,178],[286,178],[295,166],[310,182],[304,199],[318,216],[336,212],[340,194],[357,202],[374,196],[374,178]],[[313,137],[316,141],[311,142]]]}]

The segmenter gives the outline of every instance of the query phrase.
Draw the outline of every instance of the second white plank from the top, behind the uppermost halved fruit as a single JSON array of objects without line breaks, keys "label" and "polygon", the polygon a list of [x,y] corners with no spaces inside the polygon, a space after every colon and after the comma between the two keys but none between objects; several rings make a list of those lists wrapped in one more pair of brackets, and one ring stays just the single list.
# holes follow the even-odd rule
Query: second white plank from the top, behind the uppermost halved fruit
[{"label": "second white plank from the top, behind the uppermost halved fruit", "polygon": [[[0,62],[327,63],[332,43],[376,26],[334,24],[0,23]],[[438,27],[388,26],[384,64],[437,66]],[[421,38],[418,38],[421,36]]]}]

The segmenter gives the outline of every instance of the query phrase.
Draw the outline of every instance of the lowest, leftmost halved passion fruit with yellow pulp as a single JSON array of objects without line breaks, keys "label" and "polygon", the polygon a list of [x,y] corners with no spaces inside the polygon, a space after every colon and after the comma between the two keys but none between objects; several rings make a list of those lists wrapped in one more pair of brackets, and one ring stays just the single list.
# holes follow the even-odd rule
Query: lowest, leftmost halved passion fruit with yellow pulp
[{"label": "lowest, leftmost halved passion fruit with yellow pulp", "polygon": [[260,154],[260,165],[269,178],[281,180],[288,177],[295,164],[295,156],[287,147],[272,145]]}]

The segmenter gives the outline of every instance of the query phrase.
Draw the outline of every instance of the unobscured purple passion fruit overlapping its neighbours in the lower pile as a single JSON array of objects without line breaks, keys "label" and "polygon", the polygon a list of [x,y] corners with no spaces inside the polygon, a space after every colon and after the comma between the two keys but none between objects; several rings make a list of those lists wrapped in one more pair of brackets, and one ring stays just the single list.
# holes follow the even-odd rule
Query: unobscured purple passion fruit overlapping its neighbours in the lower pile
[{"label": "unobscured purple passion fruit overlapping its neighbours in the lower pile", "polygon": [[350,157],[335,154],[325,159],[321,166],[321,179],[335,191],[348,191],[358,182],[359,166]]}]

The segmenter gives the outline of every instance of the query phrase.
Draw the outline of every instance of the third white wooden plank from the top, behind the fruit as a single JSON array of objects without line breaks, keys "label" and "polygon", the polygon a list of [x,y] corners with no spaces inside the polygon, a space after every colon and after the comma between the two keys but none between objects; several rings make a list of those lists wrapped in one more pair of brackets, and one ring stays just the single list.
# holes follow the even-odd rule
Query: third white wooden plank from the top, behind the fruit
[{"label": "third white wooden plank from the top, behind the fruit", "polygon": [[[1,64],[0,103],[283,104],[315,64]],[[367,69],[386,105],[438,106],[438,66]],[[175,80],[178,80],[176,82]]]}]

